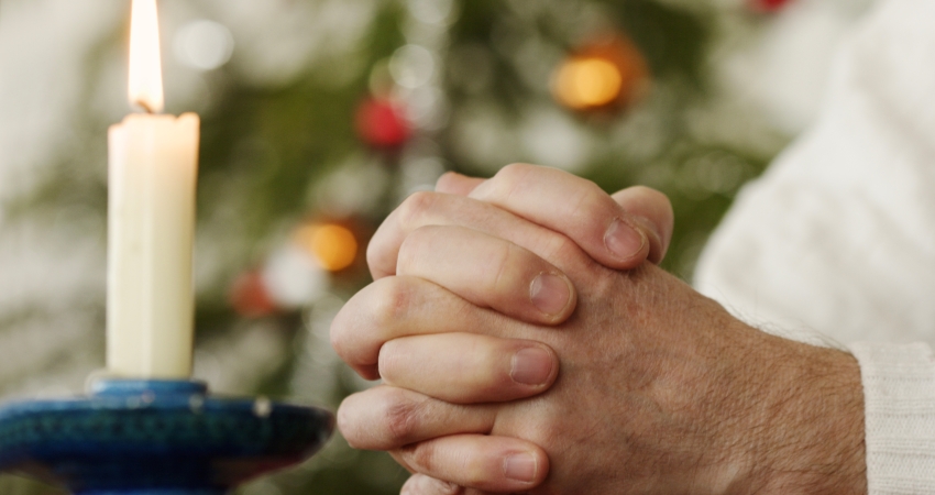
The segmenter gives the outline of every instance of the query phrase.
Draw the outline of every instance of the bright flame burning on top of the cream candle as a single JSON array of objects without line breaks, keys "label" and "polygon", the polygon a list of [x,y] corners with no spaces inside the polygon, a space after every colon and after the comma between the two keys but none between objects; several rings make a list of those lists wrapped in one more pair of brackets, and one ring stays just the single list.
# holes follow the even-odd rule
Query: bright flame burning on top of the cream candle
[{"label": "bright flame burning on top of the cream candle", "polygon": [[156,0],[133,0],[130,18],[130,105],[163,111],[163,69]]}]

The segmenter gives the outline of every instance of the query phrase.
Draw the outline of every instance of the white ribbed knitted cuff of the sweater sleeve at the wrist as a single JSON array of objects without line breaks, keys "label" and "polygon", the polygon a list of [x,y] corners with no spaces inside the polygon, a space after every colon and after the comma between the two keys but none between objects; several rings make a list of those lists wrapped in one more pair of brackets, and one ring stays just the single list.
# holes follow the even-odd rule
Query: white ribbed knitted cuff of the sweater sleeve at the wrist
[{"label": "white ribbed knitted cuff of the sweater sleeve at the wrist", "polygon": [[869,495],[935,493],[935,361],[923,343],[850,345],[864,381]]}]

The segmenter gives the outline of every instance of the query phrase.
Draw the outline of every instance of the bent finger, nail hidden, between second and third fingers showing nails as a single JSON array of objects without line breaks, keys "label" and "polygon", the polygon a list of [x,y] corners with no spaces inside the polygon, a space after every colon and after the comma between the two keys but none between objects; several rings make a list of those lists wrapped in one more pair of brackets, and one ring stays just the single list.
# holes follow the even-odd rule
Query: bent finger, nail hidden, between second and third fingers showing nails
[{"label": "bent finger, nail hidden, between second and third fingers showing nails", "polygon": [[[367,380],[380,377],[380,350],[389,340],[428,333],[474,332],[498,336],[525,326],[479,308],[422,278],[381,278],[349,300],[331,322],[331,345]],[[531,332],[530,332],[531,333]]]}]

